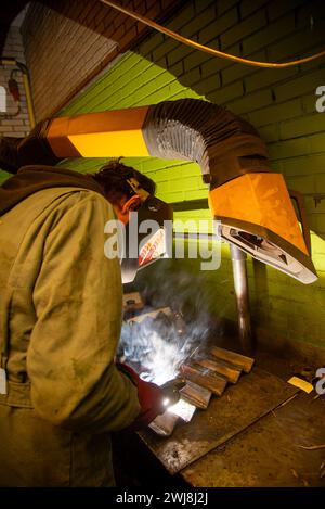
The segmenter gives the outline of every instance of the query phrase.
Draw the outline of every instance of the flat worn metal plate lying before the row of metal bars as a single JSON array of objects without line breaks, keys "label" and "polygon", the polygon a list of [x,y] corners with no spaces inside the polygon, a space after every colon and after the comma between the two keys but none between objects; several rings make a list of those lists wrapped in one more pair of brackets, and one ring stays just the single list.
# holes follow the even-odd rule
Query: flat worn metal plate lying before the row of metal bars
[{"label": "flat worn metal plate lying before the row of metal bars", "polygon": [[226,396],[213,398],[187,424],[178,425],[169,438],[148,431],[140,437],[170,473],[177,473],[266,416],[299,390],[268,371],[255,368],[231,385]]}]

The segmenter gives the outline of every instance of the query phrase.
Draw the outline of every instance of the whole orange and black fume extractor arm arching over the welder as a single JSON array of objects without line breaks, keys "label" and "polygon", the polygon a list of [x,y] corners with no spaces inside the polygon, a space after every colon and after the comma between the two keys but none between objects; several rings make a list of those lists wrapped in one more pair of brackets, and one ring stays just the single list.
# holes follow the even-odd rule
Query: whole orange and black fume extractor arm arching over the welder
[{"label": "whole orange and black fume extractor arm arching over the welder", "polygon": [[196,99],[166,101],[53,118],[37,138],[56,161],[155,155],[198,163],[222,239],[303,283],[317,279],[282,174],[271,169],[256,129],[232,112]]}]

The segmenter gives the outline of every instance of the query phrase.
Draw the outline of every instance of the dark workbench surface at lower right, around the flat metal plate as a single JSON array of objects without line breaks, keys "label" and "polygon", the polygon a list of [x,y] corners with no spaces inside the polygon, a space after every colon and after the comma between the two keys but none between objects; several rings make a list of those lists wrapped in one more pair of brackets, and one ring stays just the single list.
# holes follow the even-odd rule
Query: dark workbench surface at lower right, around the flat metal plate
[{"label": "dark workbench surface at lower right, around the flat metal plate", "polygon": [[[295,366],[294,360],[288,362],[270,353],[259,353],[256,367],[284,382],[299,371],[299,362]],[[324,422],[325,398],[315,398],[315,392],[308,395],[297,391],[283,406],[273,408],[248,427],[239,427],[237,433],[174,475],[162,467],[152,444],[150,450],[143,438],[133,436],[132,443],[127,436],[126,448],[141,456],[142,469],[136,479],[134,470],[130,470],[128,479],[121,482],[146,487],[325,486]],[[118,456],[120,459],[121,455]],[[121,465],[123,476],[127,468]]]}]

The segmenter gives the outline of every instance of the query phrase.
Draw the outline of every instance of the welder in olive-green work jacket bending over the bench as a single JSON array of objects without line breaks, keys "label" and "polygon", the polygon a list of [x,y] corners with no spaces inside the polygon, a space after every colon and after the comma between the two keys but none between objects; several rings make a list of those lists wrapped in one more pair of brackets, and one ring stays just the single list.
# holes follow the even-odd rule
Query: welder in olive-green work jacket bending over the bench
[{"label": "welder in olive-green work jacket bending over the bench", "polygon": [[[0,167],[16,173],[0,187],[0,485],[112,486],[109,433],[164,407],[114,361],[121,278],[104,226],[113,207],[127,224],[136,189],[155,184],[119,163],[93,176],[44,166],[55,161],[34,141],[29,158],[0,142]],[[32,151],[38,165],[21,167]]]}]

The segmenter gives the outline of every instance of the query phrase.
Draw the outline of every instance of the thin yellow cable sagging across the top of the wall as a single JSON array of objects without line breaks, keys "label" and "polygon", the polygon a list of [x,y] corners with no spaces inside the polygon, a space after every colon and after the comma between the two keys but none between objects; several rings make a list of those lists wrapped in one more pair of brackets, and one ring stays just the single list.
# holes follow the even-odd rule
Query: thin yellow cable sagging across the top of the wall
[{"label": "thin yellow cable sagging across the top of the wall", "polygon": [[161,31],[162,34],[166,34],[169,37],[172,37],[173,39],[179,40],[180,42],[183,42],[184,44],[192,46],[192,48],[195,48],[196,50],[204,51],[205,53],[212,54],[213,56],[220,56],[221,59],[232,60],[233,62],[237,62],[240,64],[252,65],[253,67],[271,67],[271,68],[291,67],[292,65],[304,64],[306,62],[311,62],[312,60],[320,59],[321,56],[325,56],[325,50],[323,50],[320,53],[316,53],[311,56],[307,56],[306,59],[294,60],[291,62],[282,62],[280,64],[275,62],[257,62],[255,60],[242,59],[240,56],[235,56],[233,54],[224,53],[223,51],[214,50],[213,48],[209,48],[208,46],[200,44],[199,42],[195,42],[192,39],[187,39],[186,37],[180,36],[180,34],[177,34],[176,31],[172,31],[169,28],[166,28],[165,26],[159,25],[153,20],[150,20],[148,17],[145,17],[142,14],[138,14],[136,12],[131,11],[130,9],[123,8],[122,5],[119,5],[115,2],[112,2],[110,0],[100,0],[100,1],[102,3],[105,3],[105,5],[109,5],[114,9],[117,9],[123,14],[134,17],[134,20],[138,20],[139,22],[142,22],[145,25],[151,26],[152,28],[155,28],[158,31]]}]

